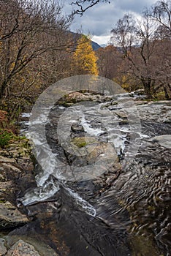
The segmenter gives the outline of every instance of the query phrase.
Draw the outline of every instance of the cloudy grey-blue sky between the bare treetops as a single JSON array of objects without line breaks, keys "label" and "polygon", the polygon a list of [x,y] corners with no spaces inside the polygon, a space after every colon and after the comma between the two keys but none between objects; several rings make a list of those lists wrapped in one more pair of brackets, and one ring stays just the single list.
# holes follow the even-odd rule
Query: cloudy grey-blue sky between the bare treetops
[{"label": "cloudy grey-blue sky between the bare treetops", "polygon": [[[72,11],[72,7],[69,5],[71,1],[64,1],[66,14]],[[110,40],[110,31],[119,18],[128,12],[140,15],[145,7],[150,7],[154,3],[156,0],[110,0],[110,4],[99,3],[87,10],[82,17],[76,15],[71,30],[82,29],[83,34],[93,36],[94,42],[99,45],[107,44]]]}]

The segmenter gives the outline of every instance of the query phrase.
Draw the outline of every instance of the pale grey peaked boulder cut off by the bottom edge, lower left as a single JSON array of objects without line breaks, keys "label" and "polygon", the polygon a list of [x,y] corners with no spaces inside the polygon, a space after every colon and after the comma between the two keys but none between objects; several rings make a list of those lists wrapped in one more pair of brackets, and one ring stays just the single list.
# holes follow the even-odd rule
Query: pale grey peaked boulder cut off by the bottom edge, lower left
[{"label": "pale grey peaked boulder cut off by the bottom edge, lower left", "polygon": [[7,256],[40,256],[39,252],[34,249],[34,246],[24,242],[23,240],[17,241],[7,252]]}]

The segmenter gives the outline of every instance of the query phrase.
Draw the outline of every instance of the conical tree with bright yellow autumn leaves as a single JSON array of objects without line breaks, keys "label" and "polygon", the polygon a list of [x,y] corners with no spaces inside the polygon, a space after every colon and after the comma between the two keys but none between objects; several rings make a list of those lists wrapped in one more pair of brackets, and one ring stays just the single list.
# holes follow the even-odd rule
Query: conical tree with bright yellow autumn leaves
[{"label": "conical tree with bright yellow autumn leaves", "polygon": [[96,55],[91,46],[91,40],[85,35],[77,41],[77,48],[73,55],[72,70],[75,75],[98,75]]}]

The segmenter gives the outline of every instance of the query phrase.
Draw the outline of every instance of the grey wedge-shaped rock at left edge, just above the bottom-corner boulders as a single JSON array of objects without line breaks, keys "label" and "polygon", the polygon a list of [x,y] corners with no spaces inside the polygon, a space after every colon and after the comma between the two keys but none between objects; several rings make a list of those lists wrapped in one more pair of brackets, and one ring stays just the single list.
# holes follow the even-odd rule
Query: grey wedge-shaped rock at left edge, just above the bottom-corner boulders
[{"label": "grey wedge-shaped rock at left edge, just above the bottom-corner boulders", "polygon": [[29,222],[26,215],[21,214],[18,208],[12,206],[8,201],[0,203],[0,227],[16,227]]}]

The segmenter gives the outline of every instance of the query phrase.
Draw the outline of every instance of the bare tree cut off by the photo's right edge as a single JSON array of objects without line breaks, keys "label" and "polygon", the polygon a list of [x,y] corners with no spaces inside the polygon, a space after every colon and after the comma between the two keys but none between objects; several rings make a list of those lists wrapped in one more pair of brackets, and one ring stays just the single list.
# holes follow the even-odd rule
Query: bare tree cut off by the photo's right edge
[{"label": "bare tree cut off by the photo's right edge", "polygon": [[[171,0],[161,0],[153,4],[147,15],[156,22],[156,36],[160,40],[160,46],[156,47],[156,52],[161,56],[160,70],[158,72],[158,86],[155,90],[163,87],[165,97],[171,99]],[[160,47],[160,49],[159,49]]]}]

